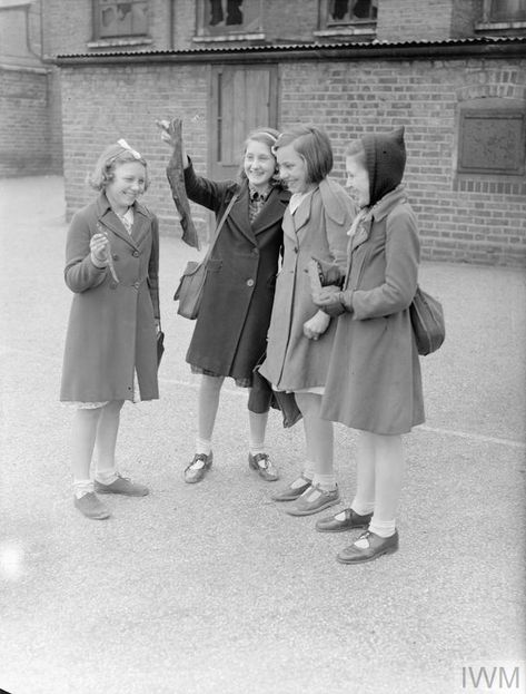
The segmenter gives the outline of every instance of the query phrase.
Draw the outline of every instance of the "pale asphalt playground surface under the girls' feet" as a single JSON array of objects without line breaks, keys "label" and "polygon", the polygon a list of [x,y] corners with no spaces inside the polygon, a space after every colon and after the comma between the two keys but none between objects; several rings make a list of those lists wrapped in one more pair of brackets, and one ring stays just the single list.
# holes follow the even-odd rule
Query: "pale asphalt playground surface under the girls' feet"
[{"label": "pale asphalt playground surface under the girls' feet", "polygon": [[[197,254],[169,229],[161,399],[125,407],[118,444],[122,471],[151,493],[109,498],[107,521],[73,508],[71,412],[58,401],[71,301],[62,180],[0,180],[0,199],[1,690],[455,694],[479,691],[466,683],[476,667],[519,667],[524,683],[523,271],[423,265],[447,341],[421,362],[427,421],[406,437],[400,550],[341,566],[355,535],[287,516],[269,499],[279,482],[248,469],[246,393],[234,384],[214,469],[182,481],[198,377],[185,363],[192,324],[171,296]],[[336,440],[348,502],[356,434],[337,427]],[[288,481],[301,427],[272,412],[268,442]]]}]

